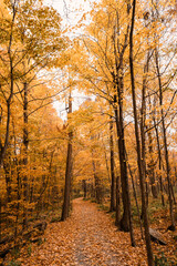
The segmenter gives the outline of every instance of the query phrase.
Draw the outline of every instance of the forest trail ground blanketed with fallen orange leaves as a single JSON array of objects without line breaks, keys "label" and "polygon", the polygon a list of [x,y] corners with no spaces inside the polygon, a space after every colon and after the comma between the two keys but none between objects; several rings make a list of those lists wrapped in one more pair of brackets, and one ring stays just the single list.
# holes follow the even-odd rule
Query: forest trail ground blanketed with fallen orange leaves
[{"label": "forest trail ground blanketed with fallen orange leaves", "polygon": [[118,232],[110,214],[82,198],[73,201],[72,215],[65,222],[48,225],[44,238],[30,257],[20,259],[22,266],[146,265],[142,244],[132,247],[129,234]]}]

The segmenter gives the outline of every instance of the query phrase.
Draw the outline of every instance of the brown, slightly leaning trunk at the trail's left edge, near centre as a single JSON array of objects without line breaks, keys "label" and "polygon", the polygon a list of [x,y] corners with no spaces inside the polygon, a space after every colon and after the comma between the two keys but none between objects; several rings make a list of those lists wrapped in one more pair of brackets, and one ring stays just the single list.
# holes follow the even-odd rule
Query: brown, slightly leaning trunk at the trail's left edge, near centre
[{"label": "brown, slightly leaning trunk at the trail's left edge, near centre", "polygon": [[[72,113],[72,99],[69,99],[69,114]],[[70,124],[69,124],[70,126]],[[67,143],[67,157],[66,157],[66,170],[65,170],[65,186],[64,186],[64,201],[62,207],[61,221],[65,221],[70,214],[70,200],[71,200],[71,180],[72,180],[72,140],[73,132],[70,129],[69,143]]]}]

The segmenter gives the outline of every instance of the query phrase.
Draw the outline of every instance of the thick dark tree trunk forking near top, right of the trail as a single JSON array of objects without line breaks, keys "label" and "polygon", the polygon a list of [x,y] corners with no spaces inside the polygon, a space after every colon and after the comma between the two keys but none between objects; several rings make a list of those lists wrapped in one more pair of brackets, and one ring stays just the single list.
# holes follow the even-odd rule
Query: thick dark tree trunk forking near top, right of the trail
[{"label": "thick dark tree trunk forking near top, right of the trail", "polygon": [[[129,9],[127,8],[127,14]],[[124,53],[127,48],[129,25],[127,25],[127,31],[125,33],[124,44],[119,45],[119,14],[116,10],[116,23],[114,27],[114,60],[115,70],[112,72],[113,83],[114,83],[114,114],[116,120],[116,132],[118,137],[118,156],[119,156],[119,170],[121,170],[121,186],[122,186],[122,200],[123,200],[123,216],[119,221],[119,228],[128,232],[129,231],[129,218],[131,218],[131,200],[128,191],[128,176],[127,176],[127,165],[125,160],[125,140],[124,140],[124,116],[123,116],[123,100],[124,100],[124,76],[123,76],[123,62]],[[131,223],[132,224],[132,223]],[[133,227],[132,227],[133,228]],[[132,231],[131,228],[131,231]]]}]

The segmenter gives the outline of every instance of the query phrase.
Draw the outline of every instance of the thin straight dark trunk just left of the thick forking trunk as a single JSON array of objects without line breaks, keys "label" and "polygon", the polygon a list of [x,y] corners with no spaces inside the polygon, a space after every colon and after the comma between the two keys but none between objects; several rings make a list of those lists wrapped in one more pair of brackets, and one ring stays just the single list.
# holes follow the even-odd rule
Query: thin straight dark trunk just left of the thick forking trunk
[{"label": "thin straight dark trunk just left of the thick forking trunk", "polygon": [[114,140],[113,140],[113,120],[110,121],[110,161],[111,161],[111,206],[110,212],[115,211],[115,174],[114,174]]}]

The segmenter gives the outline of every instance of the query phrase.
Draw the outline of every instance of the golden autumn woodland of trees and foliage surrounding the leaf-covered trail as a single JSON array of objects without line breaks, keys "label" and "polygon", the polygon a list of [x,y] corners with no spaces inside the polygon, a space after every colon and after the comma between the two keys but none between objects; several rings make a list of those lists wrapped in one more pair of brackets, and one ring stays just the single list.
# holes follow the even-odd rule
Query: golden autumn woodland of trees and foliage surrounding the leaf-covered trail
[{"label": "golden autumn woodland of trees and foliage surrounding the leaf-covered trail", "polygon": [[[0,0],[2,265],[76,197],[108,211],[129,246],[138,232],[147,265],[176,265],[176,16],[175,0],[102,0],[73,29],[42,1]],[[168,232],[165,255],[153,229]]]}]

